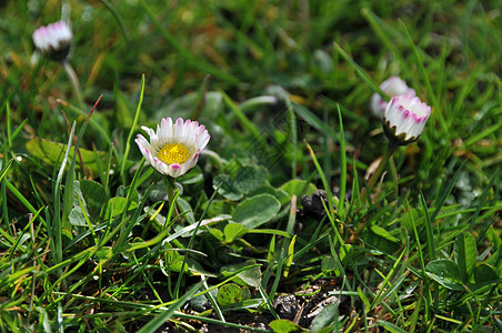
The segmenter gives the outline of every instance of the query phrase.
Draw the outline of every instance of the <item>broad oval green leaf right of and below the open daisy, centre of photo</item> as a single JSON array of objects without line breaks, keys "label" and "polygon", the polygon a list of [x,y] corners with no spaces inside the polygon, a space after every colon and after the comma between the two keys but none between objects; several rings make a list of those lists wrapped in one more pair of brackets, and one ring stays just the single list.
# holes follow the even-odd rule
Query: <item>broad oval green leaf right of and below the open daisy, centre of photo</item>
[{"label": "broad oval green leaf right of and below the open daisy, centre of photo", "polygon": [[274,218],[280,209],[281,203],[275,196],[260,194],[239,203],[233,213],[233,221],[248,229],[255,229]]}]

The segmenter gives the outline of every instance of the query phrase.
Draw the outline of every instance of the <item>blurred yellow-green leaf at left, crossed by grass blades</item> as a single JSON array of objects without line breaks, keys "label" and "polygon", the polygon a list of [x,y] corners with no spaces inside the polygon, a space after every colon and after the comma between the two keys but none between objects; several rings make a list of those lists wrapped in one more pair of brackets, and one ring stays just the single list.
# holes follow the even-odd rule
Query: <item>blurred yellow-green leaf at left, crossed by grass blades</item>
[{"label": "blurred yellow-green leaf at left, crossed by grass blades", "polygon": [[[62,161],[63,158],[62,152],[67,149],[67,145],[64,143],[53,142],[38,137],[33,137],[33,139],[27,142],[27,149],[33,157],[53,167]],[[70,157],[73,155],[73,149],[74,149],[73,147],[70,147],[69,153]],[[82,157],[84,167],[87,169],[90,169],[94,174],[99,173],[98,161],[96,160],[97,155],[101,160],[102,165],[107,164],[108,153],[106,152],[100,151],[97,154],[93,151],[82,148],[79,149],[79,151],[80,155]],[[76,168],[80,167],[81,167],[80,157],[77,157]]]}]

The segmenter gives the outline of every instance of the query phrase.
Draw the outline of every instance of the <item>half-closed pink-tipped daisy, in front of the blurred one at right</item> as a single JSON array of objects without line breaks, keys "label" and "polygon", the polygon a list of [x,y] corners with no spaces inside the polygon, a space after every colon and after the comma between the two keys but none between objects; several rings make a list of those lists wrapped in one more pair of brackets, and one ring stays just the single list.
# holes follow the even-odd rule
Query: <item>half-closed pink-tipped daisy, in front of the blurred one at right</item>
[{"label": "half-closed pink-tipped daisy, in front of the blurred one at right", "polygon": [[404,145],[419,139],[431,114],[431,107],[418,97],[394,95],[383,114],[383,130],[389,140]]}]

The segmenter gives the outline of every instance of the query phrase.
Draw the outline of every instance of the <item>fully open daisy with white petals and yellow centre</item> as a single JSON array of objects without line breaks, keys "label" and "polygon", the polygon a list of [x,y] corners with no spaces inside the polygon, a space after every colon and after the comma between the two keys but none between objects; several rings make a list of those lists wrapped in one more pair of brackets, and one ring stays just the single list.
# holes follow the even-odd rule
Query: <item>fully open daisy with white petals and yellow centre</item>
[{"label": "fully open daisy with white petals and yellow centre", "polygon": [[150,142],[138,134],[135,143],[147,162],[162,174],[178,178],[192,169],[210,135],[204,125],[190,119],[163,118],[157,131],[141,127],[150,137]]}]

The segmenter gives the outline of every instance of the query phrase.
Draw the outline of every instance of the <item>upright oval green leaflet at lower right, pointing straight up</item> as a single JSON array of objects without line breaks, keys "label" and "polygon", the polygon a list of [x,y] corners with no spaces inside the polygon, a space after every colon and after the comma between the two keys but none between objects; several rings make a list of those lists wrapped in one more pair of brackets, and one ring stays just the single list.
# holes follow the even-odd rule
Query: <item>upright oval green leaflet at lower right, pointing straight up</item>
[{"label": "upright oval green leaflet at lower right, pointing straight up", "polygon": [[[455,262],[459,266],[460,275],[463,282],[470,281],[471,273],[474,270],[478,250],[475,240],[469,232],[463,232],[456,236],[454,245]],[[473,281],[471,281],[473,282]]]}]

